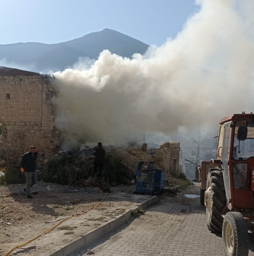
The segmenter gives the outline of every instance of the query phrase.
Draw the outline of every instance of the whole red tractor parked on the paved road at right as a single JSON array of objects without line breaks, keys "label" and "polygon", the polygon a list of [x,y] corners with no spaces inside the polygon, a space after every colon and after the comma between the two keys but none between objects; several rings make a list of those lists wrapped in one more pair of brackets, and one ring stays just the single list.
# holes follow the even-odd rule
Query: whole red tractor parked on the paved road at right
[{"label": "whole red tractor parked on the paved road at right", "polygon": [[254,230],[254,114],[220,121],[217,159],[197,167],[207,227],[221,233],[227,256],[249,254]]}]

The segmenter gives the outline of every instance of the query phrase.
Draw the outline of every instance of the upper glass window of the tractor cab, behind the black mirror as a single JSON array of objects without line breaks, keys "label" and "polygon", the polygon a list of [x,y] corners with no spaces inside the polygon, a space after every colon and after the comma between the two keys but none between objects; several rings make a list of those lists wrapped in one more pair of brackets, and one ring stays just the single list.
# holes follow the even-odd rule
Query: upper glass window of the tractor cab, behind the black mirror
[{"label": "upper glass window of the tractor cab, behind the black mirror", "polygon": [[[239,136],[238,128],[240,126],[247,127],[247,138]],[[237,136],[238,134],[238,136]],[[235,127],[233,155],[234,160],[246,160],[254,156],[254,123],[237,122]]]}]

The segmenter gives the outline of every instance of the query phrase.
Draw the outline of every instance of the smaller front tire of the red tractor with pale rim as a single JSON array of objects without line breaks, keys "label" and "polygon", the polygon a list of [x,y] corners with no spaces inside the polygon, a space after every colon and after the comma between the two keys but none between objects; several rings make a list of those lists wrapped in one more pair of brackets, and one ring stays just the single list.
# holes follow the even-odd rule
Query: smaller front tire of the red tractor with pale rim
[{"label": "smaller front tire of the red tractor with pale rim", "polygon": [[243,215],[239,212],[228,212],[222,227],[222,240],[227,256],[248,256],[249,234]]}]

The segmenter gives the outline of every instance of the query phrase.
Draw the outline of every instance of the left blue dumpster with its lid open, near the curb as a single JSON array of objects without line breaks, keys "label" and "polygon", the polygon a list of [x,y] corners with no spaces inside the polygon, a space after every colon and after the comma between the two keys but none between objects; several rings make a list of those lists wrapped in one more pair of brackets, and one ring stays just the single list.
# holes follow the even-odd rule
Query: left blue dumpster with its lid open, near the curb
[{"label": "left blue dumpster with its lid open, near the curb", "polygon": [[152,194],[154,192],[155,171],[141,170],[144,162],[137,164],[136,175],[136,192],[144,194]]}]

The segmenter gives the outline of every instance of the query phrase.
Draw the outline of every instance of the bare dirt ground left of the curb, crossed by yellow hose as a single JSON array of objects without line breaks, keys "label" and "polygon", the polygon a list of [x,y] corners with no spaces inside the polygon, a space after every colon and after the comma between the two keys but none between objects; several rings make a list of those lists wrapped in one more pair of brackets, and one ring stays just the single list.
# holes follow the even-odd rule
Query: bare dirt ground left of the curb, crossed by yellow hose
[{"label": "bare dirt ground left of the curb, crossed by yellow hose", "polygon": [[[176,182],[186,184],[176,179],[165,183],[165,186],[179,185]],[[75,188],[41,181],[32,188],[34,198],[27,199],[24,186],[0,186],[0,255],[52,228],[62,219],[95,206],[105,197],[105,192],[97,187]],[[23,250],[18,255],[48,256],[81,234],[88,233],[151,198],[150,195],[135,194],[135,184],[112,187],[111,190],[100,206],[63,222],[50,233],[24,246],[30,247],[30,250],[19,248],[10,255]]]}]

